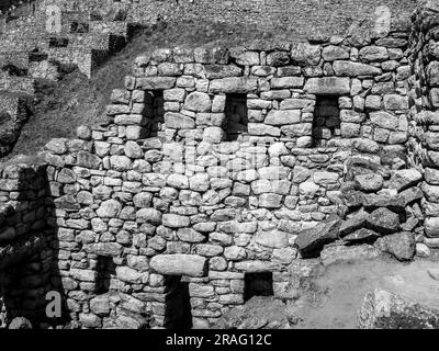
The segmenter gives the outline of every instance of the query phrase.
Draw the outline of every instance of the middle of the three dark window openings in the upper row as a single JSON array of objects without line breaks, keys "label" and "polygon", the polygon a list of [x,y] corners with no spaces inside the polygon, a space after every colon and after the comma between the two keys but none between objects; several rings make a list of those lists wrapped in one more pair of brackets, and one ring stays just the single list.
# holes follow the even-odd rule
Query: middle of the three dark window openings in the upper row
[{"label": "middle of the three dark window openings in the upper row", "polygon": [[226,95],[226,140],[241,140],[248,134],[247,94]]}]

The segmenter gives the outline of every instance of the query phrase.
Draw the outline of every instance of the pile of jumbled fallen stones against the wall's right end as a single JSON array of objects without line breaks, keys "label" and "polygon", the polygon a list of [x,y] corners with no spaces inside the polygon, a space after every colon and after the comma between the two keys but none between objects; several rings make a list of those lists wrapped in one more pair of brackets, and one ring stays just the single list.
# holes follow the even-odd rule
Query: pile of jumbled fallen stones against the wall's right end
[{"label": "pile of jumbled fallen stones against the wall's right end", "polygon": [[338,240],[346,246],[374,245],[398,260],[412,260],[424,233],[421,181],[416,169],[382,167],[347,180],[341,189],[346,220],[334,218],[302,231],[295,241],[300,252],[318,254],[325,245]]}]

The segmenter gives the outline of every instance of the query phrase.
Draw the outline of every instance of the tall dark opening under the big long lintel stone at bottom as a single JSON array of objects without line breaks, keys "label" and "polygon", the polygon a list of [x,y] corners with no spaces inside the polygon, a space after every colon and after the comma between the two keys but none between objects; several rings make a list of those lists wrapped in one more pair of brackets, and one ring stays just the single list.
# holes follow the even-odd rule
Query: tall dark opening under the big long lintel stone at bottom
[{"label": "tall dark opening under the big long lintel stone at bottom", "polygon": [[181,275],[165,276],[166,329],[191,329],[192,312],[189,295],[189,283],[181,281]]}]

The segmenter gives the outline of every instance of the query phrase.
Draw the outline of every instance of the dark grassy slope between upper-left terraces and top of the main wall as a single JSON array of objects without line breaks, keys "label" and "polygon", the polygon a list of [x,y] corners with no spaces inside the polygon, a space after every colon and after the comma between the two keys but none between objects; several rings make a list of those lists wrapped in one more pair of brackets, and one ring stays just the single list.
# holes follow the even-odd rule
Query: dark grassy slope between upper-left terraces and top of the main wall
[{"label": "dark grassy slope between upper-left terraces and top of the main wall", "polygon": [[[78,71],[66,75],[57,86],[45,87],[35,105],[35,113],[22,131],[14,150],[7,157],[33,155],[50,139],[72,137],[81,124],[95,125],[105,121],[104,109],[111,91],[121,88],[133,60],[159,47],[202,45],[239,45],[255,38],[270,38],[255,27],[230,27],[218,23],[160,23],[139,31],[131,43],[111,57],[91,80]],[[277,33],[277,37],[279,37]]]}]

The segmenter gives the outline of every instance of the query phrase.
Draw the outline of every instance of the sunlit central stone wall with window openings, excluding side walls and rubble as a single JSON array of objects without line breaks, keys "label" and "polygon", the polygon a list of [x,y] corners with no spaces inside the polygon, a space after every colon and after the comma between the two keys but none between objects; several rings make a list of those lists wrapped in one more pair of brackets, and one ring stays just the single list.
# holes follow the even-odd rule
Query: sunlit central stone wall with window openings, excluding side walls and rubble
[{"label": "sunlit central stone wall with window openings, excluding side walls and rubble", "polygon": [[[275,297],[293,298],[289,267],[312,251],[297,238],[324,222],[325,239],[311,244],[338,239],[354,166],[384,170],[380,186],[357,185],[364,192],[420,181],[390,181],[406,166],[407,34],[138,57],[108,126],[46,146],[71,318],[169,327],[187,286],[193,325],[207,327],[260,273]],[[389,218],[386,234],[401,230],[405,219]]]}]

